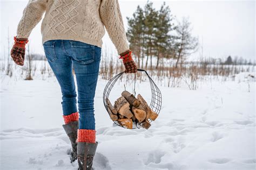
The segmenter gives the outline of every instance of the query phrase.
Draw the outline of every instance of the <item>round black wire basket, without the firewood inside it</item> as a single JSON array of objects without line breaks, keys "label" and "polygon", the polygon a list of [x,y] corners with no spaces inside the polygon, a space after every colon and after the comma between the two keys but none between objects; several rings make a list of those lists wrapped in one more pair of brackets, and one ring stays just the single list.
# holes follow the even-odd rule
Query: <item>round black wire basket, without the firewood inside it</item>
[{"label": "round black wire basket, without the firewood inside it", "polygon": [[[149,78],[150,81],[150,87],[151,87],[151,102],[150,102],[150,108],[151,110],[153,110],[154,112],[156,112],[156,114],[159,114],[160,109],[161,109],[161,104],[162,104],[162,97],[161,97],[161,91],[159,90],[159,88],[157,87],[156,83],[154,83],[154,81],[151,79],[151,77],[149,76],[149,74],[146,72],[146,70],[144,69],[137,69],[139,72],[145,72],[147,77]],[[103,103],[105,106],[106,111],[107,109],[107,103],[106,103],[106,98],[109,98],[110,92],[112,90],[112,88],[114,87],[114,84],[117,82],[117,80],[124,74],[124,72],[117,74],[116,76],[112,77],[112,79],[107,82],[106,87],[104,89],[103,92]],[[136,77],[135,77],[136,79]],[[149,102],[148,102],[149,103]],[[107,113],[109,113],[107,111]],[[117,121],[113,121],[115,124],[117,124],[118,126],[123,127],[122,125],[120,125]],[[152,122],[151,119],[149,119],[149,122]],[[123,127],[124,128],[124,127]],[[137,126],[137,128],[140,128],[140,126]],[[137,129],[137,128],[132,128],[132,129]]]}]

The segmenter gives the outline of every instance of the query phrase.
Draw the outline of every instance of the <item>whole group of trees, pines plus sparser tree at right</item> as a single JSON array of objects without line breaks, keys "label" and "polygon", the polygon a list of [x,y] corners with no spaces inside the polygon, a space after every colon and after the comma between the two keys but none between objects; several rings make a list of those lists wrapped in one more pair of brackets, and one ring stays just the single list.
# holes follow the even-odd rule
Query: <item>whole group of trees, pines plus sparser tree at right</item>
[{"label": "whole group of trees, pines plus sparser tree at right", "polygon": [[139,68],[152,69],[152,58],[156,58],[156,68],[162,58],[176,60],[175,67],[182,64],[185,57],[196,51],[198,39],[191,34],[188,18],[181,22],[173,17],[169,6],[163,3],[159,10],[147,1],[144,8],[140,6],[127,17],[127,39],[130,48],[138,59]]}]

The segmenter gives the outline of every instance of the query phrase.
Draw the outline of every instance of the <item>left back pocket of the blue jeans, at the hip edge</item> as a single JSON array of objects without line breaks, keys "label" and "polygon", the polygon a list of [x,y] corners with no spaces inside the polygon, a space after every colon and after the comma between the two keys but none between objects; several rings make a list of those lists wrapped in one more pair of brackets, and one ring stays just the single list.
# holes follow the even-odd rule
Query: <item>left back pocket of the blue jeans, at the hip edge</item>
[{"label": "left back pocket of the blue jeans, at the hip edge", "polygon": [[45,41],[43,47],[46,59],[48,59],[48,61],[54,62],[55,60],[57,60],[57,56],[55,53],[55,41]]}]

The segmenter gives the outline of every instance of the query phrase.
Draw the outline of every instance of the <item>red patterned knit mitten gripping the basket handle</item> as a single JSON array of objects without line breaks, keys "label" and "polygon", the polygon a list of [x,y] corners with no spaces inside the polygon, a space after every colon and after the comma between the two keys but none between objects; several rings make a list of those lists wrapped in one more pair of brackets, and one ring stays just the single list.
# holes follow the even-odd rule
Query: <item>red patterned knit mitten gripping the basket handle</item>
[{"label": "red patterned knit mitten gripping the basket handle", "polygon": [[123,59],[123,64],[125,67],[124,73],[136,73],[137,65],[132,59],[132,51],[130,49],[122,54],[120,54],[120,58]]}]

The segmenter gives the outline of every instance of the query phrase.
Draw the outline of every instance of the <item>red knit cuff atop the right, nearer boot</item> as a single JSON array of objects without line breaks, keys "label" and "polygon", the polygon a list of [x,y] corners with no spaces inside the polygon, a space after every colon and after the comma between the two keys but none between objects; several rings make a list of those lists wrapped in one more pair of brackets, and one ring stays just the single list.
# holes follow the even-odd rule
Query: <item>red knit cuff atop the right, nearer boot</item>
[{"label": "red knit cuff atop the right, nearer boot", "polygon": [[96,142],[96,130],[78,129],[77,141],[78,142],[95,143]]}]

